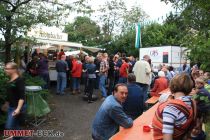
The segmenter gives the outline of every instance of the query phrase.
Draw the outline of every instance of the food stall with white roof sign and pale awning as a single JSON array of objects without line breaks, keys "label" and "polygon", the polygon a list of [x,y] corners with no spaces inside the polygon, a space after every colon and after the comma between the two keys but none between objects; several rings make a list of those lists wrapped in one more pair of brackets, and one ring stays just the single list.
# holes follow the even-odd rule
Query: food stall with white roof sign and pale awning
[{"label": "food stall with white roof sign and pale awning", "polygon": [[57,80],[55,63],[57,54],[61,49],[66,52],[66,55],[87,54],[84,50],[89,50],[93,53],[101,50],[101,48],[83,46],[81,43],[68,42],[68,34],[62,33],[62,30],[56,27],[41,26],[34,28],[28,32],[28,36],[35,38],[37,43],[40,44],[33,46],[32,50],[37,49],[38,52],[48,56],[50,81]]}]

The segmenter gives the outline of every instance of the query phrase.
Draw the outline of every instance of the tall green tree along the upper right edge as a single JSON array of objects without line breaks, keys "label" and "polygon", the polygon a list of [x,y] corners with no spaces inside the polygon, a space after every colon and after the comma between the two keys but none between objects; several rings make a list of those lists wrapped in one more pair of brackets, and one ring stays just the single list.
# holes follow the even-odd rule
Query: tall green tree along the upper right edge
[{"label": "tall green tree along the upper right edge", "polygon": [[[181,26],[180,44],[191,50],[189,59],[192,63],[202,64],[204,70],[210,71],[210,1],[209,0],[161,0],[173,3],[180,11],[175,22]],[[182,25],[179,25],[182,23]]]}]

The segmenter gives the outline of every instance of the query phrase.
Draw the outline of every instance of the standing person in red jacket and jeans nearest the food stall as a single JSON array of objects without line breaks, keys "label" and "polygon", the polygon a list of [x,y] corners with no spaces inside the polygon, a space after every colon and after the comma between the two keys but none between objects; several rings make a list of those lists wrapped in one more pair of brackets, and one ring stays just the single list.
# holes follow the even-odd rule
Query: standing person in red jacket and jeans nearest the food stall
[{"label": "standing person in red jacket and jeans nearest the food stall", "polygon": [[80,78],[82,75],[82,62],[79,60],[79,56],[76,55],[72,61],[72,81],[73,81],[73,93],[80,92]]}]

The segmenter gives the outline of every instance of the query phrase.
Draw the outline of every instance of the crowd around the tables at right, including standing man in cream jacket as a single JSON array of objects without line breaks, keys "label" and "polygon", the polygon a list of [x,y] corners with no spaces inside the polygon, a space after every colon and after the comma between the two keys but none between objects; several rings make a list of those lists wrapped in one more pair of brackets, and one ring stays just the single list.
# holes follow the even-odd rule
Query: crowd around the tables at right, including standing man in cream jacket
[{"label": "crowd around the tables at right, including standing man in cream jacket", "polygon": [[[129,67],[126,61],[122,62],[124,66],[121,65],[120,70]],[[134,63],[131,73],[127,68],[127,76],[119,78],[113,94],[105,99],[96,113],[92,124],[94,140],[109,139],[119,126],[132,127],[133,120],[143,113],[149,96],[160,96],[160,105],[151,122],[154,139],[205,139],[202,123],[210,107],[208,102],[195,97],[206,97],[210,101],[210,73],[204,73],[197,65],[190,68],[186,62],[178,73],[173,67],[163,65],[152,80],[152,72],[148,55]],[[167,88],[170,94],[158,94]]]}]

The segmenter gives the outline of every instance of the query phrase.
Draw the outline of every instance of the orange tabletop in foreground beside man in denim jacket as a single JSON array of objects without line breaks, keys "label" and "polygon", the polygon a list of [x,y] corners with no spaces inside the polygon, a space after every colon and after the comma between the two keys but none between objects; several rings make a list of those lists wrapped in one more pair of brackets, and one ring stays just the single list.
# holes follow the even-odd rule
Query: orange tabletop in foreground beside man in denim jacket
[{"label": "orange tabletop in foreground beside man in denim jacket", "polygon": [[117,134],[111,137],[111,140],[152,140],[152,130],[150,132],[144,132],[143,126],[152,124],[152,119],[158,104],[159,103],[156,103],[153,107],[134,120],[133,127],[129,129],[121,128]]}]

